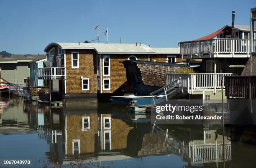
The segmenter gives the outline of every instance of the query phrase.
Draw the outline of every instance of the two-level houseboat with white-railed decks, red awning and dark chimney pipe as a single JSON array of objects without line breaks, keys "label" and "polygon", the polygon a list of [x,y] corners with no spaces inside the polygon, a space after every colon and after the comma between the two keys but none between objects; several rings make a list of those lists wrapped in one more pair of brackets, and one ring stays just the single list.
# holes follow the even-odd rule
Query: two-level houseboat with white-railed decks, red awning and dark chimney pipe
[{"label": "two-level houseboat with white-railed decks, red awning and dark chimney pipe", "polygon": [[[221,100],[221,79],[225,76],[241,75],[251,56],[250,26],[234,25],[235,12],[232,14],[232,25],[192,41],[179,42],[183,59],[202,59],[198,73],[166,74],[166,84],[181,78],[183,92],[190,99],[203,99],[205,102]],[[255,29],[255,28],[254,28]],[[223,82],[225,91],[225,82]]]}]

